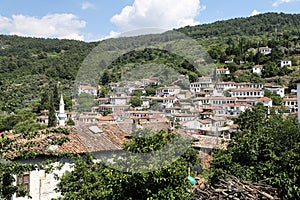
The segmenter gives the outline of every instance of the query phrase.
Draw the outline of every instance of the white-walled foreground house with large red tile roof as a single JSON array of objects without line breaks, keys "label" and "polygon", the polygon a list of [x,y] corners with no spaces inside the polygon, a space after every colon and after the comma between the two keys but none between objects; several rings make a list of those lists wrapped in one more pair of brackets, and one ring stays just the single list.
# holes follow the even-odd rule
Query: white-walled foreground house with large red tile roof
[{"label": "white-walled foreground house with large red tile roof", "polygon": [[[38,138],[33,138],[31,141],[38,142],[40,144],[38,148],[41,150],[44,149],[55,154],[63,152],[71,154],[91,152],[95,160],[101,160],[103,158],[111,158],[113,153],[120,151],[122,149],[122,141],[126,140],[125,136],[127,134],[115,124],[83,125],[80,127],[69,127],[68,130],[70,130],[70,134],[68,135],[62,133],[41,134]],[[49,141],[61,137],[67,137],[69,141],[62,145],[48,145]],[[116,138],[116,140],[112,141],[111,138]],[[72,170],[73,161],[71,159],[55,156],[48,156],[48,158],[53,161],[54,167],[63,163],[64,165],[62,168],[55,168],[50,173],[46,173],[45,170],[34,170],[15,176],[16,182],[14,184],[23,184],[33,200],[51,200],[60,197],[61,194],[55,191],[58,183],[55,175],[60,177],[66,171]],[[13,161],[35,165],[40,164],[44,159],[45,156],[41,154],[31,159],[14,157]],[[11,199],[28,200],[29,198],[14,194]]]}]

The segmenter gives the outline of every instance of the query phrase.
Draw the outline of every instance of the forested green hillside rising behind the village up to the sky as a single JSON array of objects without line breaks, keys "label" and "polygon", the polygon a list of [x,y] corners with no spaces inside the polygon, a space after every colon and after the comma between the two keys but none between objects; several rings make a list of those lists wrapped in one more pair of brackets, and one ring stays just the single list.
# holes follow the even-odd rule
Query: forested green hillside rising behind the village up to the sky
[{"label": "forested green hillside rising behind the village up to the sky", "polygon": [[[253,64],[268,64],[272,73],[263,78],[276,76],[296,76],[297,71],[276,72],[280,59],[292,59],[298,65],[300,54],[300,14],[266,13],[248,18],[218,21],[177,31],[196,39],[214,59],[217,66],[224,67],[224,61],[233,60],[228,67],[233,71],[249,69]],[[151,41],[152,36],[138,36]],[[164,34],[162,45],[167,44]],[[120,39],[105,41],[115,43]],[[128,45],[134,44],[135,37],[125,38]],[[101,42],[100,42],[101,43]],[[54,84],[67,98],[71,106],[71,86],[84,58],[99,42],[87,43],[74,40],[25,38],[0,35],[0,112],[19,112],[23,109],[34,111],[39,104],[41,93],[50,92]],[[118,43],[116,43],[118,44]],[[124,44],[124,43],[123,43]],[[269,46],[272,55],[254,54],[259,46]],[[118,47],[116,47],[118,48]],[[250,50],[249,50],[250,49]],[[114,49],[111,49],[114,51]],[[108,80],[117,81],[120,67],[154,61],[172,65],[180,73],[188,74],[193,80],[200,72],[183,58],[167,51],[145,49],[129,52],[114,61],[108,70]],[[242,64],[240,64],[242,63]],[[243,64],[245,63],[245,64]],[[273,64],[272,64],[273,63]],[[274,67],[275,66],[275,67]],[[272,68],[273,67],[273,68]],[[264,81],[242,73],[240,79],[224,77],[234,81]],[[288,84],[290,78],[286,79]],[[101,80],[100,80],[101,82]]]}]

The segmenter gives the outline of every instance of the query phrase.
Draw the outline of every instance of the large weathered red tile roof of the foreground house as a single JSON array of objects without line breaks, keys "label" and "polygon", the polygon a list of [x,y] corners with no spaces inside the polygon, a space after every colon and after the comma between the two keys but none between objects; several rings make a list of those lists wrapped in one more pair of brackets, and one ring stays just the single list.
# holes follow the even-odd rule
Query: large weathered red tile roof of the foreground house
[{"label": "large weathered red tile roof of the foreground house", "polygon": [[[93,133],[89,127],[98,126],[102,133]],[[85,124],[81,126],[66,127],[70,134],[47,133],[39,134],[33,139],[24,139],[18,134],[0,133],[8,135],[11,139],[16,139],[19,144],[15,149],[4,153],[7,159],[16,159],[19,151],[34,151],[37,155],[51,155],[53,153],[72,153],[79,154],[84,152],[101,152],[120,150],[122,144],[127,139],[126,134],[116,124]],[[67,141],[60,145],[51,145],[51,142],[58,139],[67,138]],[[24,144],[35,142],[35,146],[26,147]],[[53,146],[52,150],[47,150]]]}]

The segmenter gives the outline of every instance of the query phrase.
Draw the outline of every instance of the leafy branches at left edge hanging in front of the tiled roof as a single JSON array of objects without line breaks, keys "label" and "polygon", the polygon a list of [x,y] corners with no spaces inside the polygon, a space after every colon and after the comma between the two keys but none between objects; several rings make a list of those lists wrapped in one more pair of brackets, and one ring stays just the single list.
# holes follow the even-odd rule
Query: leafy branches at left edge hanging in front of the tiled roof
[{"label": "leafy branches at left edge hanging in front of the tiled roof", "polygon": [[[14,137],[9,133],[2,133],[0,135],[0,198],[10,199],[14,193],[18,193],[22,197],[29,195],[28,191],[22,185],[16,186],[13,184],[16,181],[14,178],[15,175],[23,175],[25,172],[41,169],[49,173],[54,169],[50,160],[33,165],[19,163],[16,161],[17,158],[32,159],[38,155],[56,155],[49,151],[46,152],[43,145],[61,145],[69,141],[67,136],[54,137],[54,140],[49,140],[48,144],[35,140],[35,138],[40,137],[42,134],[63,133],[68,135],[69,131],[66,129],[57,128],[45,131],[32,131],[40,127],[34,123],[30,125],[29,121],[21,122],[16,126],[17,129],[20,127],[20,133],[14,132]],[[32,150],[36,148],[38,150]],[[61,155],[66,156],[67,153]]]}]

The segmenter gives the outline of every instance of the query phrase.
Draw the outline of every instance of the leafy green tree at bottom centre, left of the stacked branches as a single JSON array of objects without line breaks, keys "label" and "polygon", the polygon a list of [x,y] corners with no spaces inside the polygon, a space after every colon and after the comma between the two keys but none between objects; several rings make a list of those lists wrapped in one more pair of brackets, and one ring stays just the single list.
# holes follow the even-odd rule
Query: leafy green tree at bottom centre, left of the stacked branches
[{"label": "leafy green tree at bottom centre, left of the stacked branches", "polygon": [[[178,136],[149,129],[137,134],[141,137],[134,137],[124,144],[125,150],[136,153],[158,150]],[[74,169],[61,177],[58,191],[63,195],[61,199],[190,199],[187,169],[199,164],[196,155],[197,151],[189,148],[172,164],[148,173],[123,172],[102,162],[93,162],[91,156],[81,157],[75,161]],[[126,161],[115,162],[119,165]]]}]

